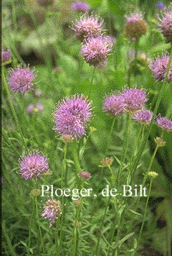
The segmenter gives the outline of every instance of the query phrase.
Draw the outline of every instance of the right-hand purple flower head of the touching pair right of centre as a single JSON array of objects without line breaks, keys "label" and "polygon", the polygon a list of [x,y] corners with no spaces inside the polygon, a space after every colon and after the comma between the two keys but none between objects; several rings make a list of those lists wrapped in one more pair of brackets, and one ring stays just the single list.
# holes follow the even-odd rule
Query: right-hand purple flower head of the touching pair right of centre
[{"label": "right-hand purple flower head of the touching pair right of centre", "polygon": [[129,113],[135,113],[143,109],[145,102],[148,101],[143,88],[125,88],[122,96],[125,103],[125,111]]}]

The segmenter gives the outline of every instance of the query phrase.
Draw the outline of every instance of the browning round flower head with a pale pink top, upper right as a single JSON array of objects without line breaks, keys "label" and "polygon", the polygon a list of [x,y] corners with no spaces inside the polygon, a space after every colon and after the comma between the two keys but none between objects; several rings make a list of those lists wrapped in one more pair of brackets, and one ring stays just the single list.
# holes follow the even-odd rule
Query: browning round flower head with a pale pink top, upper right
[{"label": "browning round flower head with a pale pink top, upper right", "polygon": [[139,38],[148,30],[148,24],[143,19],[143,14],[133,13],[125,17],[127,22],[125,24],[125,33],[130,37]]}]

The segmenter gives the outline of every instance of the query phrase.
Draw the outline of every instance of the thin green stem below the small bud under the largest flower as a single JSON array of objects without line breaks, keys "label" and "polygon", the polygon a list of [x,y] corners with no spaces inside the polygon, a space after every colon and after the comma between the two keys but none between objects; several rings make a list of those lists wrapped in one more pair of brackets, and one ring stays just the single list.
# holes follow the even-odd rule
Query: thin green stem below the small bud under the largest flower
[{"label": "thin green stem below the small bud under the largest flower", "polygon": [[[66,157],[67,157],[67,143],[65,143],[64,158],[62,161],[62,179],[61,179],[62,189],[64,189],[67,186]],[[62,209],[63,209],[63,213],[62,213],[62,221],[60,223],[61,232],[60,232],[60,236],[59,236],[59,254],[61,253],[61,250],[62,250],[62,241],[63,241],[63,237],[64,237],[63,224],[65,221],[65,214],[66,214],[65,196],[62,197]]]}]

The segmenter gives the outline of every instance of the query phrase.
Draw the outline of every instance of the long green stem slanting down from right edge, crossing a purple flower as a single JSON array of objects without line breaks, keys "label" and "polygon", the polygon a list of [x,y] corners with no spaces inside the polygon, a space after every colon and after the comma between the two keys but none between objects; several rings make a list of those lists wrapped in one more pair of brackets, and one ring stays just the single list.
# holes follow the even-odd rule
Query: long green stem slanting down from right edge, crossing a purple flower
[{"label": "long green stem slanting down from right edge, crossing a purple flower", "polygon": [[159,105],[160,105],[160,103],[161,103],[161,99],[163,98],[163,93],[164,93],[165,88],[166,88],[166,83],[167,83],[167,80],[168,80],[168,73],[169,73],[170,66],[171,66],[171,58],[172,58],[172,50],[171,50],[170,59],[169,59],[169,61],[168,61],[168,66],[167,66],[167,70],[166,70],[166,76],[165,76],[165,78],[164,78],[163,84],[162,84],[162,86],[161,86],[161,90],[160,90],[160,92],[159,92],[158,99],[157,99],[157,101],[156,101],[156,107],[155,107],[155,109],[154,109],[154,111],[153,111],[153,119],[151,120],[150,127],[148,128],[148,132],[147,132],[147,134],[145,134],[145,140],[143,140],[143,142],[142,142],[142,144],[141,144],[141,146],[140,146],[140,150],[138,151],[138,155],[137,155],[137,157],[136,157],[136,159],[135,159],[135,162],[133,163],[133,168],[132,168],[133,171],[135,170],[135,168],[137,168],[138,163],[139,163],[139,161],[140,161],[140,158],[142,157],[143,150],[144,150],[144,148],[145,148],[145,144],[146,144],[146,142],[148,141],[148,137],[149,137],[149,135],[150,135],[150,133],[151,133],[151,129],[152,129],[152,127],[153,127],[153,122],[154,122],[156,113],[157,113],[157,111],[158,111],[158,107],[159,107]]}]

